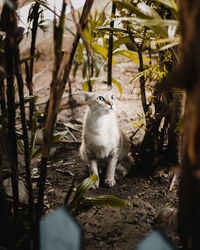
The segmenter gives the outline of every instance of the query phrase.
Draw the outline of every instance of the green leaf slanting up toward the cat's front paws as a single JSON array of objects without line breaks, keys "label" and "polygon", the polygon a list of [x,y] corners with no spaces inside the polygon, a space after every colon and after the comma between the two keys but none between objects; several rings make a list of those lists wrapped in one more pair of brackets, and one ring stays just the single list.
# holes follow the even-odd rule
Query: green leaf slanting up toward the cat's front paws
[{"label": "green leaf slanting up toward the cat's front paws", "polygon": [[97,175],[91,175],[90,177],[85,179],[83,182],[81,182],[80,186],[76,190],[76,193],[74,195],[72,202],[69,205],[69,209],[73,209],[74,207],[77,206],[79,201],[83,198],[83,196],[95,184],[97,180],[98,180]]}]

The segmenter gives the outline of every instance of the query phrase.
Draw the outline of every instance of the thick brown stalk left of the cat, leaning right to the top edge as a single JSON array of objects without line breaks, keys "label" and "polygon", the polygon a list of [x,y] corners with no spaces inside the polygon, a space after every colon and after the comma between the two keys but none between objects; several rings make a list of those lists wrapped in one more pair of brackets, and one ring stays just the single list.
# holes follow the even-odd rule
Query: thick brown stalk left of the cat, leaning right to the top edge
[{"label": "thick brown stalk left of the cat, leaning right to the top edge", "polygon": [[[82,26],[82,29],[85,27],[93,1],[94,0],[86,0],[85,2],[83,12],[81,15],[81,19],[80,19],[80,25]],[[65,1],[63,1],[63,4],[64,2]],[[62,34],[62,32],[60,32],[60,34]],[[76,37],[74,39],[74,43],[71,49],[69,50],[69,52],[65,52],[65,54],[63,55],[61,63],[58,67],[58,70],[56,70],[57,65],[54,64],[54,72],[53,72],[51,89],[50,89],[49,105],[48,105],[47,117],[46,117],[46,121],[44,125],[44,133],[43,133],[42,162],[41,162],[41,167],[40,167],[41,173],[40,173],[38,203],[37,203],[37,220],[39,220],[43,214],[44,188],[45,188],[45,181],[46,181],[46,175],[47,175],[47,160],[49,156],[50,145],[51,145],[51,141],[53,137],[57,113],[59,111],[59,106],[60,106],[60,102],[62,99],[63,91],[64,91],[66,82],[69,77],[69,73],[71,70],[73,58],[75,55],[75,51],[76,51],[79,39],[80,39],[80,34],[77,31]],[[56,40],[54,42],[56,43]]]}]

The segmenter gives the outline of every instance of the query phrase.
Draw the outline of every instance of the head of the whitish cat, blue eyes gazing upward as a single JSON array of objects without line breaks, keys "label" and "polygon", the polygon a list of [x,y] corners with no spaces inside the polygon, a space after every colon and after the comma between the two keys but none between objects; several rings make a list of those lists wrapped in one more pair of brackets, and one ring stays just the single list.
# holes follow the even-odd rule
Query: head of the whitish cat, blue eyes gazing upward
[{"label": "head of the whitish cat, blue eyes gazing upward", "polygon": [[87,103],[94,112],[106,114],[115,109],[115,96],[112,90],[98,90],[87,94]]}]

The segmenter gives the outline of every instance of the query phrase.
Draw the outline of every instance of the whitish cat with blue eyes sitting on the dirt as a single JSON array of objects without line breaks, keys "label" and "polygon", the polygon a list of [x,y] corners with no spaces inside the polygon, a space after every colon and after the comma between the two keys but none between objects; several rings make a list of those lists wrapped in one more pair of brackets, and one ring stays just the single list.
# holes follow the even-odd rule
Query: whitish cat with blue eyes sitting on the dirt
[{"label": "whitish cat with blue eyes sitting on the dirt", "polygon": [[125,167],[130,168],[130,144],[115,115],[115,97],[112,89],[83,94],[88,110],[83,123],[81,158],[87,162],[90,175],[98,176],[94,188],[99,187],[99,162],[106,162],[105,184],[112,187],[116,184],[116,166],[123,168],[120,163],[125,160]]}]

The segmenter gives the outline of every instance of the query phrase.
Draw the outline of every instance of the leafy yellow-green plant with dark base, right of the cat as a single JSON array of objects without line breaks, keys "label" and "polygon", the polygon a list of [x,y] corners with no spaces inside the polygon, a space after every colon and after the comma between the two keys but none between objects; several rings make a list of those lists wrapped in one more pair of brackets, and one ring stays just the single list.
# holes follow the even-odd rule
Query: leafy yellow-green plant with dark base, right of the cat
[{"label": "leafy yellow-green plant with dark base, right of the cat", "polygon": [[[152,173],[155,159],[158,159],[166,148],[166,138],[170,130],[168,128],[172,123],[166,103],[167,99],[170,100],[170,95],[156,96],[155,89],[178,59],[175,47],[179,43],[176,33],[179,25],[178,8],[174,1],[114,2],[121,13],[118,21],[122,22],[123,29],[126,30],[124,34],[129,37],[126,44],[128,47],[131,45],[139,58],[139,73],[133,77],[132,82],[139,79],[145,136],[138,147],[133,147],[133,154],[136,162],[141,163],[139,169],[144,167],[145,172]],[[149,64],[144,64],[144,54],[149,55]],[[149,91],[151,96],[147,98]],[[172,103],[172,100],[169,102]],[[176,128],[177,120],[175,123]],[[175,128],[171,132],[174,132]]]}]

